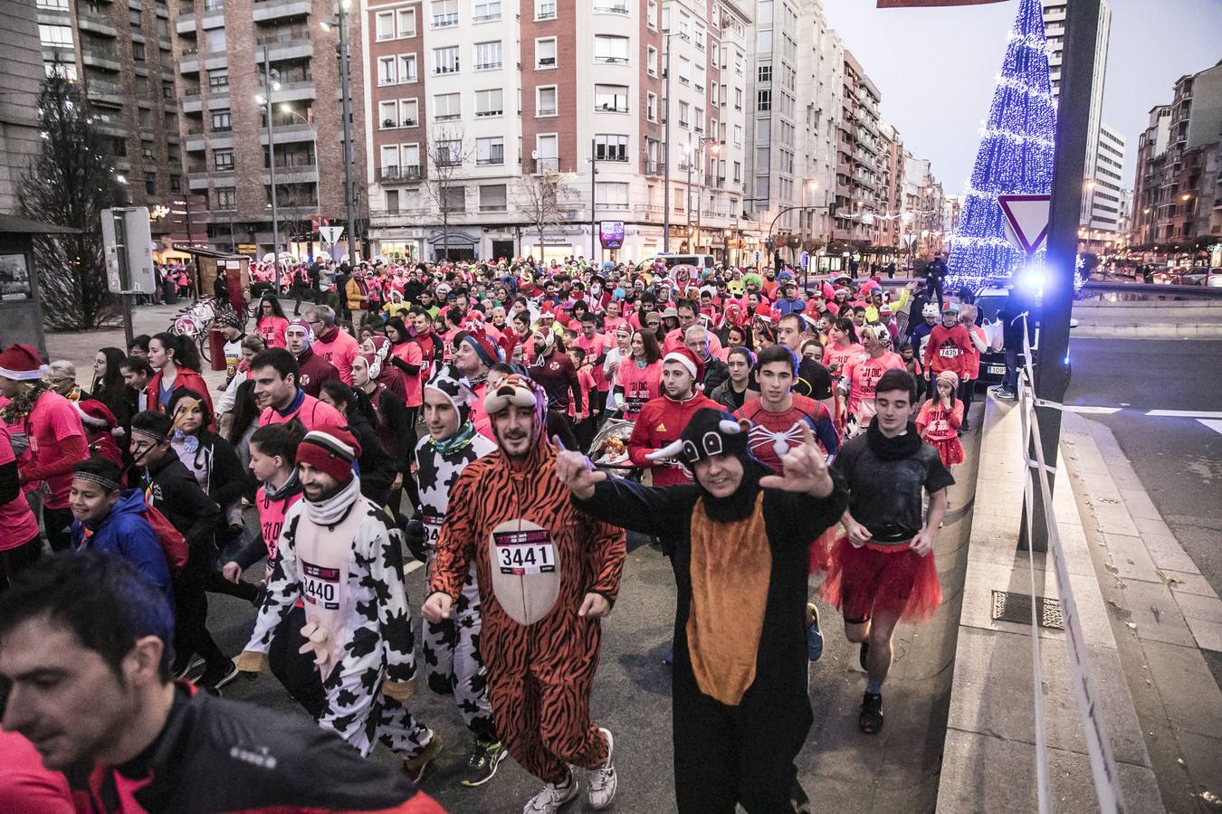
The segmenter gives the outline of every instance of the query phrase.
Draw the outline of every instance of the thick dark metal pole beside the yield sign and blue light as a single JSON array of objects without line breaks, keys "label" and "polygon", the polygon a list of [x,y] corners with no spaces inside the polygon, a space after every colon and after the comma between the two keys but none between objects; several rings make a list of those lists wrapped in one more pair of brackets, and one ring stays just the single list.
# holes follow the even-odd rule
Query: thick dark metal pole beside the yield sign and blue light
[{"label": "thick dark metal pole beside the yield sign and blue light", "polygon": [[[1081,211],[1081,179],[1086,170],[1086,139],[1089,138],[1090,92],[1095,82],[1095,40],[1099,35],[1100,0],[1074,0],[1066,11],[1064,61],[1061,68],[1061,104],[1057,105],[1056,156],[1052,165],[1052,204],[1048,210],[1050,275],[1044,283],[1040,320],[1040,358],[1035,367],[1035,395],[1045,403],[1059,405],[1069,387],[1069,314],[1073,309],[1074,260],[1078,256],[1078,222]],[[1101,81],[1101,79],[1100,79]],[[1035,420],[1040,427],[1044,460],[1057,464],[1061,443],[1061,410],[1058,406],[1036,406]],[[1034,449],[1031,459],[1034,460]],[[1048,487],[1053,487],[1048,472]],[[1039,472],[1033,487],[1040,489]],[[1042,500],[1034,502],[1031,538],[1026,538],[1026,509],[1019,521],[1020,549],[1030,546],[1046,552],[1047,522]]]}]

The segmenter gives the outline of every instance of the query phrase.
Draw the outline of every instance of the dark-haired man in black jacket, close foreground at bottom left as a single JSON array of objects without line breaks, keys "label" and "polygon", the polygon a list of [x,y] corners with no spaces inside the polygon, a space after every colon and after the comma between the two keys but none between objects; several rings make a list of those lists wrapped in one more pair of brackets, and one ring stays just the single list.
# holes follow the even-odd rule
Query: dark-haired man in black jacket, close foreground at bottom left
[{"label": "dark-haired man in black jacket, close foreground at bottom left", "polygon": [[[76,810],[442,812],[336,737],[175,683],[172,630],[165,597],[99,552],[48,558],[0,598],[4,729],[64,773]],[[45,802],[12,810],[64,810]]]}]

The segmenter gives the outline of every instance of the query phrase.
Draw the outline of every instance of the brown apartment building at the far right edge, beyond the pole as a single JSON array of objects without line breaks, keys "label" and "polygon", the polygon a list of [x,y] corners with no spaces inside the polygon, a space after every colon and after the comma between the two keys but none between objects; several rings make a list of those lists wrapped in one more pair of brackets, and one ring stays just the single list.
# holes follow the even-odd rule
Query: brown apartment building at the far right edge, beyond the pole
[{"label": "brown apartment building at the far right edge, beyond the pole", "polygon": [[1176,81],[1138,139],[1132,240],[1165,255],[1222,234],[1222,62]]}]

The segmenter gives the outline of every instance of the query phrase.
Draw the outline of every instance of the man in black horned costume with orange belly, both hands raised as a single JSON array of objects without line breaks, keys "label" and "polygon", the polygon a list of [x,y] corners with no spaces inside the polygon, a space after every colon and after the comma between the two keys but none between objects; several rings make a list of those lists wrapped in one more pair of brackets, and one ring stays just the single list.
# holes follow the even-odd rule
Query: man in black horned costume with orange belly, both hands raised
[{"label": "man in black horned costume with orange belly, both hands raised", "polygon": [[807,544],[847,504],[809,426],[769,474],[728,412],[697,411],[672,454],[695,483],[609,480],[578,453],[557,456],[591,516],[675,538],[672,738],[681,814],[794,812],[807,796],[794,759],[814,720],[803,609]]}]

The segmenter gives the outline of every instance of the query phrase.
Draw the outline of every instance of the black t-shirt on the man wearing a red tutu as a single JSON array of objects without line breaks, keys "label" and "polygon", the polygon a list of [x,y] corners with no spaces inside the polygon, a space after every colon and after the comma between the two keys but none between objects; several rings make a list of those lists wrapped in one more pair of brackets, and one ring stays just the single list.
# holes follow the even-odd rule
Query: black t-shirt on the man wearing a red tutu
[{"label": "black t-shirt on the man wearing a red tutu", "polygon": [[930,444],[921,443],[908,458],[882,460],[865,433],[844,442],[832,469],[848,482],[849,514],[875,536],[888,528],[915,533],[924,525],[921,488],[932,494],[954,483]]}]

